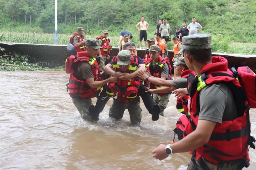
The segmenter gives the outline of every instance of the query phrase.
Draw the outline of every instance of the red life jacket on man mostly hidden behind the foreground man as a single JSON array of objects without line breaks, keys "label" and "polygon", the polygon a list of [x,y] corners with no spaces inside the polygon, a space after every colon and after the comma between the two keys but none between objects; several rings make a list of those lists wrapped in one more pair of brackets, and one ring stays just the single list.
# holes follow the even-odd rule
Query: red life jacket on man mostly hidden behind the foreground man
[{"label": "red life jacket on man mostly hidden behind the foreground man", "polygon": [[[182,71],[180,76],[181,76],[181,78],[187,78],[189,76],[189,74],[196,76],[195,71],[191,71],[191,70]],[[185,115],[188,114],[188,106],[187,105],[188,105],[188,94],[183,96],[181,99],[177,99],[176,108],[182,114],[185,114]]]}]

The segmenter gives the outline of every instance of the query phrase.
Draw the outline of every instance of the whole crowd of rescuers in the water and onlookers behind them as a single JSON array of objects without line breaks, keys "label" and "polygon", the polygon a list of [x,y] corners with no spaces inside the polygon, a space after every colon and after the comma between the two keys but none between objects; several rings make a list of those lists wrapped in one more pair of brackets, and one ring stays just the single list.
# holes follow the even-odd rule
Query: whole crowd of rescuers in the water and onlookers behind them
[{"label": "whole crowd of rescuers in the water and onlookers behind them", "polygon": [[[249,79],[249,74],[253,72],[249,67],[247,72],[242,68],[230,70],[225,58],[212,57],[211,35],[198,33],[203,27],[195,18],[188,26],[183,22],[176,29],[176,37],[172,39],[173,58],[167,51],[166,42],[170,41],[167,20],[158,21],[155,37],[147,38],[149,26],[145,17],[136,25],[140,31],[139,48],[143,39],[147,47],[144,56],[137,55],[129,31],[120,32],[119,52],[111,56],[108,30],[95,39],[84,40],[83,27],[77,28],[69,40],[75,54],[67,58],[65,68],[70,73],[67,90],[81,117],[96,122],[113,98],[109,117],[122,119],[128,109],[131,124],[139,126],[140,98],[151,119],[157,121],[159,115],[165,116],[173,92],[181,113],[174,130],[179,141],[160,144],[152,151],[153,157],[162,160],[174,153],[189,152],[192,155],[189,170],[248,167],[248,146],[255,148],[249,108],[256,107],[256,96],[246,93],[242,76],[251,81],[253,77]],[[107,59],[111,59],[110,63],[106,63]],[[91,100],[94,97],[97,97],[95,105]]]}]

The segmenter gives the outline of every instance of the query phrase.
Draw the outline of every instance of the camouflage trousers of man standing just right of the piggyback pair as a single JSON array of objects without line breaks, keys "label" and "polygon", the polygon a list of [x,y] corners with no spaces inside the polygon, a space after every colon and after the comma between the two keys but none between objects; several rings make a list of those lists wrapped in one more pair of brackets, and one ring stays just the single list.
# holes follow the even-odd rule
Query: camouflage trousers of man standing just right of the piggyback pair
[{"label": "camouflage trousers of man standing just right of the piggyback pair", "polygon": [[170,98],[170,93],[166,93],[163,95],[159,95],[157,93],[153,94],[153,101],[155,104],[158,104],[160,107],[160,115],[163,115],[163,111],[165,110],[165,108],[167,107],[167,104],[169,102],[169,98]]}]

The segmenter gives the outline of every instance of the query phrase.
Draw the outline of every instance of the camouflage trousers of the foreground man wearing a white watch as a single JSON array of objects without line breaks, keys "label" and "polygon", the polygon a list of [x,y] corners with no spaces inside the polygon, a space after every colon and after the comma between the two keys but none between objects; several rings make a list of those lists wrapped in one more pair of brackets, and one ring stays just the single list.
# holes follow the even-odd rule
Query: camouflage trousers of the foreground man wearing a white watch
[{"label": "camouflage trousers of the foreground man wearing a white watch", "polygon": [[[205,161],[202,158],[202,161],[205,162],[205,164],[208,167],[208,170],[241,170],[241,168],[238,168],[238,166],[241,163],[241,160],[236,161],[229,161],[229,162],[223,162],[223,163],[210,163],[208,161]],[[205,170],[203,169],[197,161],[190,161],[188,164],[187,170]]]}]

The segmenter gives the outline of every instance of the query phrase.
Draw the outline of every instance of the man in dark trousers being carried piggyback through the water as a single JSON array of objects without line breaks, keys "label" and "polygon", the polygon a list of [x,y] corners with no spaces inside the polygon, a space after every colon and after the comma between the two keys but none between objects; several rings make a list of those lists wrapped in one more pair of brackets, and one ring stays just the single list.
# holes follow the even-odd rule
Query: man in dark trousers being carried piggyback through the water
[{"label": "man in dark trousers being carried piggyback through the water", "polygon": [[[146,71],[146,68],[143,64],[142,59],[139,58],[138,56],[135,56],[136,46],[133,42],[125,43],[123,46],[123,49],[129,50],[131,52],[132,56],[134,56],[134,58],[138,59],[138,66],[137,66],[138,69],[131,73],[122,73],[120,71],[113,71],[113,60],[112,60],[104,68],[106,71],[106,74],[115,76],[116,78],[118,78],[120,80],[129,80],[129,79],[137,77],[139,70]],[[146,90],[147,90],[147,88],[143,84],[141,84],[139,86],[139,95],[141,96],[143,103],[144,103],[145,107],[147,108],[148,112],[152,115],[151,119],[153,121],[156,121],[159,118],[160,108],[159,108],[158,104],[154,103],[152,96],[149,93],[146,93]],[[106,94],[106,93],[104,94],[104,90],[103,90],[101,92],[100,98],[103,98],[104,96],[107,96],[107,95],[108,94]],[[105,107],[108,100],[109,100],[109,98],[103,98],[102,100],[98,100],[95,107],[90,108],[90,112],[93,115],[95,115],[95,120],[98,119],[99,113],[102,112],[102,110]]]}]

